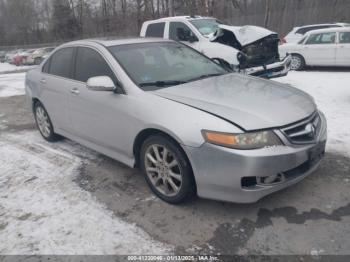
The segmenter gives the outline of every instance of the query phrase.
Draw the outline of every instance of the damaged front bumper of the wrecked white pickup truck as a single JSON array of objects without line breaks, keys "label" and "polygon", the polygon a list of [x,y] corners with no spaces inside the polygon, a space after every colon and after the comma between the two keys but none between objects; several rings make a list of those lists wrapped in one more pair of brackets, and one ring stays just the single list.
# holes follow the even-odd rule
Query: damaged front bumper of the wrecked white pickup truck
[{"label": "damaged front bumper of the wrecked white pickup truck", "polygon": [[250,67],[241,70],[241,73],[264,78],[285,76],[290,70],[291,59],[291,56],[288,55],[282,61],[263,66]]}]

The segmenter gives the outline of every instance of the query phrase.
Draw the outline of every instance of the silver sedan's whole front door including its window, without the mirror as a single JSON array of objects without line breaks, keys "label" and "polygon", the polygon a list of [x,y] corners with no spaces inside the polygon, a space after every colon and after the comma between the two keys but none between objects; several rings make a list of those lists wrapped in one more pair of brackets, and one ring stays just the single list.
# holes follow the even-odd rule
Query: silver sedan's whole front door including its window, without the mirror
[{"label": "silver sedan's whole front door including its window, without the mirror", "polygon": [[116,77],[106,60],[95,50],[79,47],[74,78],[77,80],[69,95],[69,107],[74,133],[90,143],[127,154],[125,139],[130,133],[128,96],[111,91],[91,91],[86,81],[94,76]]}]

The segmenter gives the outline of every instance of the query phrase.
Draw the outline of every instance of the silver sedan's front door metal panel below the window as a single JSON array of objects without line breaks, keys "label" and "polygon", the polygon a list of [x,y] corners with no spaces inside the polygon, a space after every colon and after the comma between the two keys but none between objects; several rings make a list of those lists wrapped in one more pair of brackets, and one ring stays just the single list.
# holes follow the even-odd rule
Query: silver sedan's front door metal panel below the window
[{"label": "silver sedan's front door metal panel below the window", "polygon": [[130,145],[125,137],[130,134],[127,96],[113,92],[90,91],[83,83],[73,87],[69,105],[75,135],[80,138],[127,154]]}]

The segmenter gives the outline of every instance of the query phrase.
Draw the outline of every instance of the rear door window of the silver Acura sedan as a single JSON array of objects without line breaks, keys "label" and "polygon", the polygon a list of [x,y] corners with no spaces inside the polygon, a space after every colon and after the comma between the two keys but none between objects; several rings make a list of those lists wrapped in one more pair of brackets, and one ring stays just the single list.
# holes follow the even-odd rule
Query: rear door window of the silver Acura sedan
[{"label": "rear door window of the silver Acura sedan", "polygon": [[67,47],[55,52],[50,58],[49,74],[71,78],[73,53],[73,47]]}]

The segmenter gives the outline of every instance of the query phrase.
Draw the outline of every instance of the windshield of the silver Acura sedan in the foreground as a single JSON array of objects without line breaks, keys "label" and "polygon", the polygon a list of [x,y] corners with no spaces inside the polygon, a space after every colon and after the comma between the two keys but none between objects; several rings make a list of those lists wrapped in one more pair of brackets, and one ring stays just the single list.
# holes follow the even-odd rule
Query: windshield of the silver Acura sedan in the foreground
[{"label": "windshield of the silver Acura sedan in the foreground", "polygon": [[117,45],[109,50],[145,91],[227,73],[209,58],[175,42]]}]

